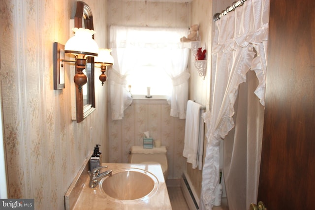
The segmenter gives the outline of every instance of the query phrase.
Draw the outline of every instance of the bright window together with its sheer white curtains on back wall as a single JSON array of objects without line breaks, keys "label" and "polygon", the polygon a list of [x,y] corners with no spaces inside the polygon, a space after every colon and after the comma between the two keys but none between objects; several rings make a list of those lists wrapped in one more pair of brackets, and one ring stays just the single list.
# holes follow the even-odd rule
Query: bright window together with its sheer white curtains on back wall
[{"label": "bright window together with its sheer white curtains on back wall", "polygon": [[130,93],[147,95],[147,87],[153,97],[167,96],[171,116],[185,118],[190,50],[180,38],[187,33],[184,28],[111,26],[110,48],[115,60],[109,71],[113,120],[123,118],[124,110],[132,103]]}]

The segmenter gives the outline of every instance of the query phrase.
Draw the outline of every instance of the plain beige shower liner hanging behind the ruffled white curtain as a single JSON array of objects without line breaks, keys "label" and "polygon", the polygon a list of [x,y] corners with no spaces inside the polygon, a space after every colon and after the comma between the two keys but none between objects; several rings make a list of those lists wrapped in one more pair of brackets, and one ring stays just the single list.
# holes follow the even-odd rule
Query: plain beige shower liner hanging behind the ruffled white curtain
[{"label": "plain beige shower liner hanging behind the ruffled white curtain", "polygon": [[[224,138],[223,172],[229,210],[249,210],[256,204],[264,107],[253,91],[258,80],[252,71],[239,86],[234,104],[235,127]],[[241,184],[240,184],[241,183]]]}]

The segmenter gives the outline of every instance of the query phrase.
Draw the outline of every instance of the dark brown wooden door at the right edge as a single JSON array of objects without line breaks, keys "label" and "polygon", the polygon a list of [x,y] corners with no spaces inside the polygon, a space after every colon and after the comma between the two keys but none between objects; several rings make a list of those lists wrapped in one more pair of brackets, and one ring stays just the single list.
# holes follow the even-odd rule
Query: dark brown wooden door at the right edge
[{"label": "dark brown wooden door at the right edge", "polygon": [[311,210],[315,201],[315,0],[271,0],[258,201]]}]

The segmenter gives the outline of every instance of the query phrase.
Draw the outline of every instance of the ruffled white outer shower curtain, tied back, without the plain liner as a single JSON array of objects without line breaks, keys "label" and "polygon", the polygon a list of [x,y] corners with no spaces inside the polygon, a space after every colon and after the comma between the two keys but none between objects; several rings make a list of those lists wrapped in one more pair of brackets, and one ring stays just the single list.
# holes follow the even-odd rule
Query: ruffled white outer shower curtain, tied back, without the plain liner
[{"label": "ruffled white outer shower curtain, tied back, without the plain liner", "polygon": [[[207,128],[207,148],[202,172],[201,210],[212,210],[214,205],[215,188],[219,183],[220,173],[220,140],[224,139],[234,127],[234,104],[239,85],[246,82],[246,74],[249,70],[255,72],[258,86],[254,93],[259,98],[260,104],[264,105],[269,0],[247,0],[243,6],[222,16],[221,20],[215,23],[216,29],[212,46],[211,107],[203,116]],[[256,118],[257,115],[253,111],[248,116],[249,118]],[[260,117],[262,116],[260,115]],[[242,122],[242,120],[239,121]],[[261,138],[262,136],[257,135],[252,140],[255,141],[253,144],[258,148],[255,150],[258,154],[251,154],[251,151],[247,152],[246,148],[243,148],[245,153],[252,155],[250,158],[257,160],[256,163],[260,163]],[[248,170],[253,171],[254,178],[251,180],[254,183],[252,184],[257,185],[259,166],[250,167],[256,167]],[[246,183],[235,184],[239,187],[246,185]],[[252,190],[253,197],[257,194],[257,189],[257,187],[249,189]],[[244,193],[247,194],[246,190]],[[229,205],[229,208],[233,210],[232,205]]]}]

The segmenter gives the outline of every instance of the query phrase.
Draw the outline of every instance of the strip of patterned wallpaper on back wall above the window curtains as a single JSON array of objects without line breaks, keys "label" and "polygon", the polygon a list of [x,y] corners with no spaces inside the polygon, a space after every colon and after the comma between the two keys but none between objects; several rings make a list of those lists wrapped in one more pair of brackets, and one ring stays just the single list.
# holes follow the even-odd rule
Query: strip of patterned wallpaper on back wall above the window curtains
[{"label": "strip of patterned wallpaper on back wall above the window curtains", "polygon": [[108,0],[108,26],[189,27],[189,3]]}]

